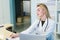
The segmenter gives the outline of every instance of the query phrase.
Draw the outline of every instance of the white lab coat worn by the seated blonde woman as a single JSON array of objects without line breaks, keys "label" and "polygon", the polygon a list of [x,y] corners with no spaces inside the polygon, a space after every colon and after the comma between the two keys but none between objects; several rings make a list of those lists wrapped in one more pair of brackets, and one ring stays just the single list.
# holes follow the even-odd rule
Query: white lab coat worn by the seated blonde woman
[{"label": "white lab coat worn by the seated blonde woman", "polygon": [[[46,31],[44,32],[44,29],[47,25],[47,20],[48,20],[48,26],[46,28]],[[25,31],[21,32],[23,34],[40,34],[40,35],[44,35],[46,36],[47,38],[49,36],[51,36],[53,33],[54,33],[54,29],[55,29],[55,22],[48,18],[45,20],[45,23],[43,24],[43,27],[42,27],[42,23],[40,21],[39,23],[39,28],[37,27],[37,24],[39,23],[39,19],[37,19],[28,29],[26,29]],[[34,30],[36,28],[36,30]],[[52,39],[49,39],[49,40],[52,40]]]}]

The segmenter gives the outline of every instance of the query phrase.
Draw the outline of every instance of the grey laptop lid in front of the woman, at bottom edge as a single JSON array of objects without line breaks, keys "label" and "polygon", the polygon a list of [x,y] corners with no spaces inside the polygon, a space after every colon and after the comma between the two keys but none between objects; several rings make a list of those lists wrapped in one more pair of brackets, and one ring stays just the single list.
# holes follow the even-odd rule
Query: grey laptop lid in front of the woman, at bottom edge
[{"label": "grey laptop lid in front of the woman, at bottom edge", "polygon": [[20,34],[20,40],[46,40],[46,37],[42,35]]}]

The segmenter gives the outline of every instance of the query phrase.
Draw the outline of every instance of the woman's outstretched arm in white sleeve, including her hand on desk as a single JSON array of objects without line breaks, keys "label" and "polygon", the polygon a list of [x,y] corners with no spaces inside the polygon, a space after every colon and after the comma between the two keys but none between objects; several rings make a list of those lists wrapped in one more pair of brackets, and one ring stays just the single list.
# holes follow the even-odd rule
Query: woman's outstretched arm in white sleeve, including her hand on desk
[{"label": "woman's outstretched arm in white sleeve, including her hand on desk", "polygon": [[[37,23],[37,21],[35,21],[28,29],[22,31],[21,33],[22,33],[22,34],[28,34],[29,32],[31,32],[31,31],[34,29],[34,27],[36,26],[36,23]],[[10,37],[11,37],[11,38],[16,38],[16,37],[18,37],[21,33],[11,34]]]}]

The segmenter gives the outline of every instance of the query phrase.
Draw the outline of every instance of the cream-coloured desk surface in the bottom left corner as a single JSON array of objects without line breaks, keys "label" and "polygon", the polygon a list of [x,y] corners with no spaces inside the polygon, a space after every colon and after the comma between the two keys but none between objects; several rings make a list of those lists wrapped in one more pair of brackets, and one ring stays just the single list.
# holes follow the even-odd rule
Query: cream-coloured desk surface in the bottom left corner
[{"label": "cream-coloured desk surface in the bottom left corner", "polygon": [[6,28],[10,26],[12,25],[5,24],[4,27],[0,28],[0,39],[1,40],[5,40],[7,37],[9,38],[10,35],[13,33],[13,32],[6,30]]}]

